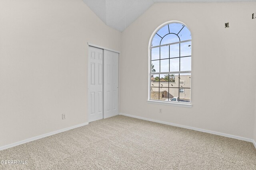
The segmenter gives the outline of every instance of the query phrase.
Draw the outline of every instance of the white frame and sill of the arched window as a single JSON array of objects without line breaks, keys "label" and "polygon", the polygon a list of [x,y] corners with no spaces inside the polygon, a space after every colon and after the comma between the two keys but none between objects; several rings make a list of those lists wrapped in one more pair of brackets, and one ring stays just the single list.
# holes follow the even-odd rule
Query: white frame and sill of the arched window
[{"label": "white frame and sill of the arched window", "polygon": [[[184,74],[184,73],[190,73],[190,75],[192,74],[192,60],[191,60],[191,70],[190,71],[178,71],[178,72],[156,72],[156,73],[152,73],[151,72],[151,59],[152,59],[152,54],[151,54],[151,44],[153,41],[154,36],[156,35],[156,33],[162,29],[162,27],[164,27],[165,25],[171,24],[171,23],[180,23],[182,25],[184,25],[185,27],[188,28],[188,26],[180,21],[167,21],[161,25],[159,25],[156,30],[152,33],[151,37],[150,37],[150,41],[149,41],[149,45],[148,45],[148,100],[147,102],[149,104],[162,104],[162,105],[169,105],[169,106],[179,106],[179,107],[192,107],[192,98],[191,98],[191,80],[190,80],[190,102],[170,102],[170,101],[161,101],[161,100],[152,100],[150,99],[150,95],[151,95],[151,75],[154,74]],[[190,30],[188,28],[188,30]],[[191,33],[191,31],[190,31]],[[168,46],[168,45],[173,45],[173,44],[181,44],[181,43],[185,43],[185,42],[191,42],[192,43],[192,35],[191,35],[191,39],[190,40],[185,40],[185,41],[179,41],[179,42],[175,42],[175,43],[168,43],[168,44],[164,44],[164,45],[158,45],[158,46],[154,46],[154,48],[157,47],[162,47],[162,46]],[[191,49],[191,56],[192,56],[192,49]],[[161,71],[161,70],[160,70]],[[180,84],[180,80],[178,81],[179,85]],[[184,82],[185,83],[185,82]],[[183,84],[184,85],[184,84]],[[180,86],[179,86],[180,88]],[[185,90],[184,90],[185,91]],[[180,94],[180,90],[179,93]]]}]

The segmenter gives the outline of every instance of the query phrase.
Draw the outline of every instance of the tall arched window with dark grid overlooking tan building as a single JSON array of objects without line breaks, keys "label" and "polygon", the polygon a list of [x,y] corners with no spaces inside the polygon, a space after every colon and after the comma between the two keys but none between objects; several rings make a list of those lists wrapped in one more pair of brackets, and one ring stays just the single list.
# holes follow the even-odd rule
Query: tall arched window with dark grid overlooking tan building
[{"label": "tall arched window with dark grid overlooking tan building", "polygon": [[150,39],[149,100],[190,104],[191,33],[178,21],[163,24]]}]

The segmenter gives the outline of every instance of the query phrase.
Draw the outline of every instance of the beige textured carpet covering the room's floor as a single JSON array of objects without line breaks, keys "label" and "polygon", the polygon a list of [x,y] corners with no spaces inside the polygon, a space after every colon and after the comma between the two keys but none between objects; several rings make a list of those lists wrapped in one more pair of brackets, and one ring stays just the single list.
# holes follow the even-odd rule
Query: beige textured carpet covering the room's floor
[{"label": "beige textured carpet covering the room's floor", "polygon": [[256,170],[252,143],[118,115],[0,151],[0,169]]}]

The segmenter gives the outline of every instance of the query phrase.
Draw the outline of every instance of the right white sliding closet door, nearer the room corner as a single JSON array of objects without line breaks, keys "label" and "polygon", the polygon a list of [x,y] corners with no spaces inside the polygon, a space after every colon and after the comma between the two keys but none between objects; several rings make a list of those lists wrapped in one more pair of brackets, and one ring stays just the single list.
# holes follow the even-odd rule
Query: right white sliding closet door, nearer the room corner
[{"label": "right white sliding closet door, nearer the room corner", "polygon": [[118,115],[118,53],[104,50],[104,118]]}]

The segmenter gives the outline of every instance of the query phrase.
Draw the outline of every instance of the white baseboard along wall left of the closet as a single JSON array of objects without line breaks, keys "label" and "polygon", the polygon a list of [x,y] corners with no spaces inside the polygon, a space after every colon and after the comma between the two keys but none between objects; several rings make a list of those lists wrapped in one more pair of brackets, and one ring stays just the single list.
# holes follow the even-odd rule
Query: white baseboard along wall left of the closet
[{"label": "white baseboard along wall left of the closet", "polygon": [[72,127],[67,127],[67,128],[64,128],[64,129],[60,129],[58,131],[54,131],[54,132],[50,132],[50,133],[46,133],[44,135],[39,135],[39,136],[36,136],[36,137],[32,137],[30,139],[25,139],[23,141],[19,141],[19,142],[16,142],[16,143],[12,143],[12,144],[9,144],[9,145],[5,145],[3,147],[0,147],[0,150],[4,150],[4,149],[8,149],[8,148],[11,148],[11,147],[16,147],[18,145],[21,145],[21,144],[24,144],[24,143],[28,143],[28,142],[31,142],[31,141],[35,141],[37,139],[41,139],[41,138],[44,138],[44,137],[48,137],[48,136],[51,136],[51,135],[55,135],[57,133],[61,133],[61,132],[64,132],[64,131],[68,131],[68,130],[71,130],[71,129],[75,129],[77,127],[81,127],[81,126],[84,126],[84,125],[88,125],[89,123],[86,122],[86,123],[82,123],[82,124],[79,124],[79,125],[74,125]]}]

